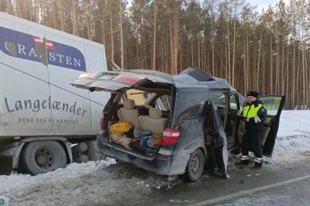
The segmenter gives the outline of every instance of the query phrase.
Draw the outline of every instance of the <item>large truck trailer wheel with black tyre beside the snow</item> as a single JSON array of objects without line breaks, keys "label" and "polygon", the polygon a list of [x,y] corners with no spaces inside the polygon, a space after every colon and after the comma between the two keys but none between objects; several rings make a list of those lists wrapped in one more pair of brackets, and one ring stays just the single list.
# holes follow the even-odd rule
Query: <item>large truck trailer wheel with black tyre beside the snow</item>
[{"label": "large truck trailer wheel with black tyre beside the snow", "polygon": [[30,175],[65,168],[66,163],[66,152],[57,141],[30,142],[20,154],[20,170]]}]

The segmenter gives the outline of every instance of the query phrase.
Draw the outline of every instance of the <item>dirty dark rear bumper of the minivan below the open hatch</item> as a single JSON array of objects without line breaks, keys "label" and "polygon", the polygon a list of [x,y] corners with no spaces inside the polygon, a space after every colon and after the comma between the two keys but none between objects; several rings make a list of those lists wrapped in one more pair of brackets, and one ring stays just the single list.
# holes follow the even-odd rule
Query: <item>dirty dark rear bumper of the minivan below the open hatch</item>
[{"label": "dirty dark rear bumper of the minivan below the open hatch", "polygon": [[159,152],[156,156],[145,157],[135,152],[113,146],[109,143],[102,143],[100,136],[97,137],[97,152],[107,155],[108,157],[132,163],[136,167],[143,168],[147,171],[160,175],[179,175],[185,173],[185,168],[190,155],[177,156],[163,155]]}]

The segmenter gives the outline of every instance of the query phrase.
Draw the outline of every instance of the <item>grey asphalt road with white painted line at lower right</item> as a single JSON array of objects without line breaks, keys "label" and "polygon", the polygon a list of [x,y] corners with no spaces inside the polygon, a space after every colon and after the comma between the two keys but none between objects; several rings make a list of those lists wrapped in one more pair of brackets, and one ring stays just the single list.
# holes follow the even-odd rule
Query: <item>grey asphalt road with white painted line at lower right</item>
[{"label": "grey asphalt road with white painted line at lower right", "polygon": [[310,205],[310,157],[279,167],[252,170],[228,167],[230,178],[215,174],[194,183],[182,182],[169,190],[154,191],[127,205]]}]

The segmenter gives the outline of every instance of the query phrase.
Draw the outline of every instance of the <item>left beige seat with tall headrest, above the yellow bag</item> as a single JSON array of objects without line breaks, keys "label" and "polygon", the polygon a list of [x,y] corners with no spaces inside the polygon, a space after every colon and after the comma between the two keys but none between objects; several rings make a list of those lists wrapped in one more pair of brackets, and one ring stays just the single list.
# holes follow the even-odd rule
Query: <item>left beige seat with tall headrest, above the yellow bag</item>
[{"label": "left beige seat with tall headrest, above the yellow bag", "polygon": [[132,99],[124,100],[124,107],[119,109],[119,118],[121,122],[130,122],[132,128],[140,127],[138,110],[135,108],[135,101]]}]

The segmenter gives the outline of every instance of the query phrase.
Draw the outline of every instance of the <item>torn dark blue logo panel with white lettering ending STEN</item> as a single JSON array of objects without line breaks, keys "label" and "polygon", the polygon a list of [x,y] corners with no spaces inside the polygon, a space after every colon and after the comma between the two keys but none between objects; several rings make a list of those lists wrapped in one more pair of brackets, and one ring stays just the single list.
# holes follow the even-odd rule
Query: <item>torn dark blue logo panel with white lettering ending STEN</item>
[{"label": "torn dark blue logo panel with white lettering ending STEN", "polygon": [[86,72],[77,48],[0,26],[0,50],[7,55]]}]

